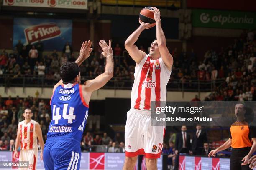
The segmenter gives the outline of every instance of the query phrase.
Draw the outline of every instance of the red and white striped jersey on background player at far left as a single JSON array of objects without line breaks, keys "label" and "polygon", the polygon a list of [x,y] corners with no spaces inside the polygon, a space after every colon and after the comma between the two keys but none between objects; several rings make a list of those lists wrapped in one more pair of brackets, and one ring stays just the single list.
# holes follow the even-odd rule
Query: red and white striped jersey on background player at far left
[{"label": "red and white striped jersey on background player at far left", "polygon": [[20,132],[20,149],[37,148],[36,121],[31,120],[26,123],[25,120],[19,122],[18,130]]}]

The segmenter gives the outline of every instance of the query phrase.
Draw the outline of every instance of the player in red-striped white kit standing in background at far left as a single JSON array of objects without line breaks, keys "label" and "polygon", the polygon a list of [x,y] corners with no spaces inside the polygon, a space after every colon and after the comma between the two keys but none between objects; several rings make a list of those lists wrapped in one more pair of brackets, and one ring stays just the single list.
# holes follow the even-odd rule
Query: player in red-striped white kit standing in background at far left
[{"label": "player in red-striped white kit standing in background at far left", "polygon": [[35,120],[32,120],[31,117],[33,113],[31,109],[25,109],[23,116],[25,120],[19,122],[18,132],[15,143],[15,151],[13,154],[14,158],[18,157],[18,148],[20,147],[20,157],[19,161],[28,161],[28,168],[20,168],[21,170],[35,170],[36,169],[36,160],[38,155],[38,145],[41,147],[40,158],[43,159],[43,150],[44,150],[44,140],[42,136],[42,131],[40,125]]}]

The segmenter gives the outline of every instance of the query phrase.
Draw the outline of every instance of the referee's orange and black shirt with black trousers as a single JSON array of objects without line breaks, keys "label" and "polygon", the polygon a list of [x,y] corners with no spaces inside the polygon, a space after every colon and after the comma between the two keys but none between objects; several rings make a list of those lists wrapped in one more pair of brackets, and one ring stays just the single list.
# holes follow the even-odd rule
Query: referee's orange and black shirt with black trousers
[{"label": "referee's orange and black shirt with black trousers", "polygon": [[232,139],[232,153],[230,158],[230,170],[251,170],[249,165],[241,165],[243,157],[245,157],[251,149],[252,140],[256,138],[256,128],[248,125],[246,121],[235,122],[230,127],[229,138]]}]

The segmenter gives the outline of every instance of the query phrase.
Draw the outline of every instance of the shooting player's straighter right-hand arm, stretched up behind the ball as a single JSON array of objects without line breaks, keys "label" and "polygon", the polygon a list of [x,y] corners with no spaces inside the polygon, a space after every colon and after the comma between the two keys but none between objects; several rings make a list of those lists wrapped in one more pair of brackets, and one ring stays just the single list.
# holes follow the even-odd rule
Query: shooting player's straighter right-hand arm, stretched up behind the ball
[{"label": "shooting player's straighter right-hand arm, stretched up behind the ball", "polygon": [[158,42],[159,52],[161,57],[164,61],[165,66],[168,68],[169,71],[172,70],[173,58],[172,55],[169,53],[168,48],[166,47],[166,39],[164,36],[164,31],[161,27],[161,19],[160,19],[160,10],[156,7],[154,9],[154,18],[156,21],[156,39]]}]

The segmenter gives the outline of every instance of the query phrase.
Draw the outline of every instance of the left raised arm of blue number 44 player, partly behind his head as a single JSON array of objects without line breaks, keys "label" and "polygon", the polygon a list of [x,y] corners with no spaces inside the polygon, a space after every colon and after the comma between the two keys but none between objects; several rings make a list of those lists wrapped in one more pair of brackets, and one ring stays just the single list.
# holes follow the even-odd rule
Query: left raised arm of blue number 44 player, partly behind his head
[{"label": "left raised arm of blue number 44 player, partly behind his head", "polygon": [[[90,40],[88,42],[87,41],[83,42],[82,47],[80,49],[79,57],[75,61],[75,63],[77,63],[78,66],[80,66],[84,62],[84,60],[86,60],[91,55],[91,52],[92,52],[91,45],[92,45],[92,42]],[[55,89],[62,84],[63,82],[62,80],[60,80],[56,85],[54,85],[52,93],[54,93]]]}]

